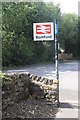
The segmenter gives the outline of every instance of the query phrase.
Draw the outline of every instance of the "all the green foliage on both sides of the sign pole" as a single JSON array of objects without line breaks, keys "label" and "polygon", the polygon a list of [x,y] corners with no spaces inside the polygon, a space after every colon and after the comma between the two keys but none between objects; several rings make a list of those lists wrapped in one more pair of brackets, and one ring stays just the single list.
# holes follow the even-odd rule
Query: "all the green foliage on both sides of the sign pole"
[{"label": "all the green foliage on both sides of the sign pole", "polygon": [[33,23],[58,19],[59,43],[66,52],[76,55],[77,16],[61,15],[59,5],[44,2],[2,3],[2,64],[26,65],[53,61],[54,41],[34,42]]}]

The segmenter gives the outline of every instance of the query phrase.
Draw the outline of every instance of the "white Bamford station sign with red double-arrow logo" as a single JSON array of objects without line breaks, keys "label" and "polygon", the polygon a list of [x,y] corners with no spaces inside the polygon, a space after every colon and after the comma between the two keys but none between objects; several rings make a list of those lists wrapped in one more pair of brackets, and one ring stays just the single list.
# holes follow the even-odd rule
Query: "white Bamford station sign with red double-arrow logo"
[{"label": "white Bamford station sign with red double-arrow logo", "polygon": [[54,40],[53,22],[33,23],[34,41]]}]

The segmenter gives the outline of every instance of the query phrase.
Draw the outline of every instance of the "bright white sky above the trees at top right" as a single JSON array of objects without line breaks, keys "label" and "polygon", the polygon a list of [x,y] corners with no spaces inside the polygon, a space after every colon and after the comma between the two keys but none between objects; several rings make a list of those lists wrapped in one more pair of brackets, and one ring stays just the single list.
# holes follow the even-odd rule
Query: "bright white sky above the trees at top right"
[{"label": "bright white sky above the trees at top right", "polygon": [[78,2],[80,0],[45,0],[46,2],[60,3],[62,13],[75,13],[78,15]]}]

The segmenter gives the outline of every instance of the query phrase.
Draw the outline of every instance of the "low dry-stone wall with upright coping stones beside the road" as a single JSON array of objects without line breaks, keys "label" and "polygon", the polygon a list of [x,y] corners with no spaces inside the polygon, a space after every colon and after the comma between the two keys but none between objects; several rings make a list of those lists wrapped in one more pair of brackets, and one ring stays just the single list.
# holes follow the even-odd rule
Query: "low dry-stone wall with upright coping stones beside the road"
[{"label": "low dry-stone wall with upright coping stones beside the road", "polygon": [[[59,104],[59,82],[29,73],[4,74],[2,109],[24,99],[45,99],[47,104]],[[8,80],[9,78],[9,80]]]}]

